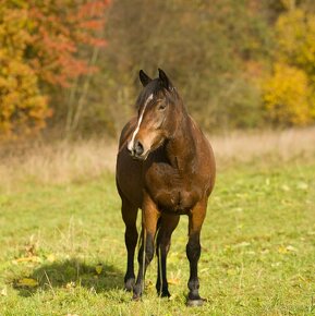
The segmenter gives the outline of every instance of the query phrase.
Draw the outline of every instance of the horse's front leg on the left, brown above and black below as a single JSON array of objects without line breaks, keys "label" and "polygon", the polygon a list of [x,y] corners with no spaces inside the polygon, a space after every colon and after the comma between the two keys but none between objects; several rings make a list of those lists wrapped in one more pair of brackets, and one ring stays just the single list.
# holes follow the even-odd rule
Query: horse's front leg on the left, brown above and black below
[{"label": "horse's front leg on the left, brown above and black below", "polygon": [[157,221],[160,212],[156,204],[148,195],[144,196],[142,208],[142,245],[138,252],[138,275],[133,288],[133,300],[138,300],[144,290],[144,278],[148,264],[154,257],[154,240],[157,230]]}]

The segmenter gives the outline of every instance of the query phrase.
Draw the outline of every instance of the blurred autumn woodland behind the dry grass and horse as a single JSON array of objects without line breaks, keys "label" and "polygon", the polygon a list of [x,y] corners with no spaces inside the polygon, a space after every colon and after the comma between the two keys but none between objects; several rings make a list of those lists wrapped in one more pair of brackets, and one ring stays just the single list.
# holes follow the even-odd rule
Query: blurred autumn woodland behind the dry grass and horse
[{"label": "blurred autumn woodland behind the dry grass and horse", "polygon": [[138,70],[211,134],[315,120],[312,0],[2,0],[0,138],[117,137]]}]

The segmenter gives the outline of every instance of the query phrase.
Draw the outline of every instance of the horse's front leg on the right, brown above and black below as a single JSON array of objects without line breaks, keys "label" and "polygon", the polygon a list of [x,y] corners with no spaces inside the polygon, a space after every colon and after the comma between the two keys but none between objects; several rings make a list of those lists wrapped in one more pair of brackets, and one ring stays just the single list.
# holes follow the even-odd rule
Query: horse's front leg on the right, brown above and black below
[{"label": "horse's front leg on the right, brown above and black below", "polygon": [[189,218],[189,243],[186,245],[186,255],[190,260],[190,280],[189,280],[189,306],[203,305],[204,300],[199,295],[198,280],[198,260],[201,257],[201,230],[206,216],[207,203],[199,202],[191,211]]}]

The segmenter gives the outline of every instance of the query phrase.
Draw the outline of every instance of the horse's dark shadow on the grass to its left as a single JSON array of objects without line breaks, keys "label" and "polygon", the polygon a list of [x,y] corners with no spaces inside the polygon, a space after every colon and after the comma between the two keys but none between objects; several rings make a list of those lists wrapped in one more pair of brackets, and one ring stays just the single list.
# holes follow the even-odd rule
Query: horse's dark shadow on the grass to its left
[{"label": "horse's dark shadow on the grass to its left", "polygon": [[29,278],[38,282],[37,287],[15,285],[21,296],[31,296],[40,291],[63,288],[72,291],[77,287],[93,292],[107,292],[112,289],[122,289],[123,274],[108,264],[87,265],[77,258],[63,262],[44,264],[36,268]]}]

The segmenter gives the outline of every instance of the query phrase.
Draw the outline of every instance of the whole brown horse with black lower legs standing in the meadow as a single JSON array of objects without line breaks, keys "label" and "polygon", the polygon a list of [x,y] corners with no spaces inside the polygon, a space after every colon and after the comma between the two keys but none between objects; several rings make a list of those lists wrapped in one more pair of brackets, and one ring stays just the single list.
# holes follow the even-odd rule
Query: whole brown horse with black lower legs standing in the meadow
[{"label": "whole brown horse with black lower legs standing in the meadow", "polygon": [[[167,254],[180,215],[189,216],[186,255],[190,262],[189,305],[201,305],[197,263],[199,235],[207,200],[215,184],[215,158],[207,138],[189,116],[177,89],[162,70],[152,80],[140,71],[144,89],[136,105],[137,118],[124,126],[117,157],[117,187],[122,199],[128,267],[124,285],[141,297],[146,268],[158,256],[156,289],[170,296]],[[136,217],[142,209],[138,275],[135,281]]]}]

